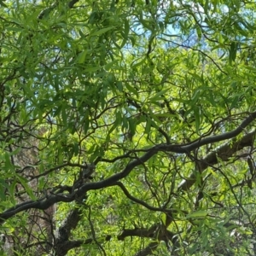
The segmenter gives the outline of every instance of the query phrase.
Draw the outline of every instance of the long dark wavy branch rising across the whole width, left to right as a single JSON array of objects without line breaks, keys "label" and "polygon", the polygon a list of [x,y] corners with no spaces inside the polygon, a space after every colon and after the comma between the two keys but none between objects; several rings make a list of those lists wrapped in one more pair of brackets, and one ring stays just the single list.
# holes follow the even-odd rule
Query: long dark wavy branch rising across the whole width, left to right
[{"label": "long dark wavy branch rising across the whole width, left to right", "polygon": [[[133,168],[135,168],[136,166],[140,166],[141,164],[149,160],[154,154],[157,154],[159,151],[174,152],[174,153],[181,153],[181,154],[189,153],[191,150],[194,150],[195,148],[200,148],[201,146],[206,145],[207,143],[217,143],[223,140],[236,137],[238,134],[241,133],[241,131],[244,131],[247,125],[250,125],[254,119],[256,119],[256,112],[251,113],[247,117],[247,119],[245,119],[241,123],[241,125],[239,125],[233,131],[225,132],[217,136],[205,137],[202,139],[199,138],[195,142],[185,144],[185,145],[159,144],[154,146],[153,148],[148,148],[148,152],[143,154],[143,156],[141,156],[140,158],[137,158],[136,160],[132,160],[127,166],[125,166],[125,169],[122,172],[116,173],[113,176],[108,177],[107,179],[96,182],[96,183],[86,183],[72,195],[61,195],[61,194],[49,195],[49,196],[45,196],[43,199],[40,199],[38,201],[26,201],[15,207],[11,207],[9,210],[0,214],[0,219],[1,219],[0,224],[3,223],[4,220],[11,218],[18,212],[22,212],[30,208],[37,208],[37,209],[44,210],[60,201],[63,201],[63,202],[74,201],[76,198],[84,195],[89,190],[102,189],[109,186],[113,186],[114,183],[116,183],[120,179],[129,175],[129,173],[133,170]],[[240,145],[239,147],[245,147],[245,145],[248,145],[248,143],[252,143],[248,138],[250,138],[250,136],[253,137],[254,134],[255,134],[255,131],[249,133],[246,137],[243,137],[245,141],[240,140],[240,143],[235,143],[236,150],[238,145]],[[208,158],[210,157],[208,156]],[[207,162],[207,160],[205,161]],[[208,163],[208,165],[209,164],[210,163]],[[180,188],[183,190],[187,190],[194,184],[194,182],[195,181],[193,181],[193,179],[192,179],[192,182],[186,181],[185,183],[180,185]]]}]

